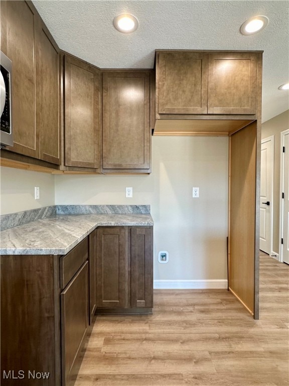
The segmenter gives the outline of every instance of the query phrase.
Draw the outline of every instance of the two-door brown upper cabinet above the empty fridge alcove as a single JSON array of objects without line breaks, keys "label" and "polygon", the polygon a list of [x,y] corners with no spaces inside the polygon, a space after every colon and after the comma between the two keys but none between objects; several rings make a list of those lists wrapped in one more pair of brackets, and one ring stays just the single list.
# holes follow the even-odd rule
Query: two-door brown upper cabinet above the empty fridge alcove
[{"label": "two-door brown upper cabinet above the empty fridge alcove", "polygon": [[158,119],[256,114],[256,52],[157,51],[156,58]]}]

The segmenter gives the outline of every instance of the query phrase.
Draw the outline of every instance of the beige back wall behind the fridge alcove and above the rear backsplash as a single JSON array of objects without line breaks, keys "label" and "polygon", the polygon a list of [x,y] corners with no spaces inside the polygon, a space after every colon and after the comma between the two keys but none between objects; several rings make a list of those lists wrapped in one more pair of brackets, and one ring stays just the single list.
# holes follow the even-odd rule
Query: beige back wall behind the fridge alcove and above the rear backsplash
[{"label": "beige back wall behind the fridge alcove and above the rear backsplash", "polygon": [[[227,137],[153,137],[150,175],[56,175],[57,204],[150,204],[155,279],[226,279]],[[133,198],[125,198],[132,186]],[[193,186],[200,198],[192,198]],[[169,262],[160,264],[160,250]]]}]

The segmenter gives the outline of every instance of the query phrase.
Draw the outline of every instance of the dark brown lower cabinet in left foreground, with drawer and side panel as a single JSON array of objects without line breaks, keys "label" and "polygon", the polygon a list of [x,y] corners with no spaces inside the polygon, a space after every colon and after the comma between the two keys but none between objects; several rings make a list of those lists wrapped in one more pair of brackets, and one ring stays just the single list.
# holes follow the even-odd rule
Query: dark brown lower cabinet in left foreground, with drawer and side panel
[{"label": "dark brown lower cabinet in left foreground, with drawer and side panel", "polygon": [[88,238],[64,256],[1,256],[3,386],[68,386],[88,326]]}]

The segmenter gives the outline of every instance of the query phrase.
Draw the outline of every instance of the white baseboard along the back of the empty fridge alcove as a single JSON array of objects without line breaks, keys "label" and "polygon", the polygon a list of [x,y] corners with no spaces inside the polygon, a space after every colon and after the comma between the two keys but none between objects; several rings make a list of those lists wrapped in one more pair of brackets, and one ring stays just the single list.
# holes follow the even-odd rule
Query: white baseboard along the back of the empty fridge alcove
[{"label": "white baseboard along the back of the empty fridge alcove", "polygon": [[154,280],[154,289],[227,289],[228,280]]}]

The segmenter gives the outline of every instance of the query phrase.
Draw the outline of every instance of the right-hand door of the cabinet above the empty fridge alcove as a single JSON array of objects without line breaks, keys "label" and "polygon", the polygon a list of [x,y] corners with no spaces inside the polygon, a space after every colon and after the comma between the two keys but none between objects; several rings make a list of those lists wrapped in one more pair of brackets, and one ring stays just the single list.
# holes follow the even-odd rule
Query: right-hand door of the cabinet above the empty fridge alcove
[{"label": "right-hand door of the cabinet above the empty fridge alcove", "polygon": [[209,114],[256,113],[256,53],[210,53]]}]

